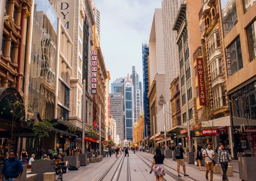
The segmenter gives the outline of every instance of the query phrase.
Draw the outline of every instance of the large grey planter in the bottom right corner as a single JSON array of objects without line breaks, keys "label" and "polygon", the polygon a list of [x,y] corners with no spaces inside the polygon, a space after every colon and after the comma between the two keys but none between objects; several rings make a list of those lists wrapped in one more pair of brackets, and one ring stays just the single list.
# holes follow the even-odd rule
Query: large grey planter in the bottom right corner
[{"label": "large grey planter in the bottom right corner", "polygon": [[246,181],[255,181],[256,157],[238,157],[239,178]]}]

